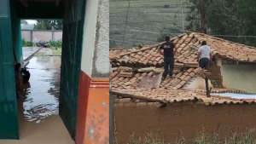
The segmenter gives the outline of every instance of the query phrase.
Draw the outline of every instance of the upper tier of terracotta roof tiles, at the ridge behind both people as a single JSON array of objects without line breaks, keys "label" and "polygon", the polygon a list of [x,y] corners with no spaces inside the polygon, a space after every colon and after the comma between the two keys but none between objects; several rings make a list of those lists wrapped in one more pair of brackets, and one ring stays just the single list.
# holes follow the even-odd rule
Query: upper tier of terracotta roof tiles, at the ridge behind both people
[{"label": "upper tier of terracotta roof tiles, at the ridge behind both people", "polygon": [[[175,62],[177,63],[196,62],[197,49],[201,46],[202,41],[207,41],[212,55],[218,55],[229,60],[256,62],[256,49],[254,47],[233,43],[207,34],[186,32],[172,37],[171,40],[177,47],[177,54],[175,55]],[[164,60],[163,55],[160,55],[157,50],[160,44],[144,45],[141,48],[133,49],[112,49],[109,52],[109,58],[117,66],[161,66]]]}]

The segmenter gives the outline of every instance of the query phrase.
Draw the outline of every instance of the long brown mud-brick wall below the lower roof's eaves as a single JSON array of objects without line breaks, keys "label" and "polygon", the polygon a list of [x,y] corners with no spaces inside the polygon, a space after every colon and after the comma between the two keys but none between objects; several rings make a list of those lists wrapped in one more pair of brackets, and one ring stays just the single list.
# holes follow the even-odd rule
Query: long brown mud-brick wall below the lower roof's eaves
[{"label": "long brown mud-brick wall below the lower roof's eaves", "polygon": [[119,144],[127,143],[132,132],[142,139],[148,132],[175,142],[182,134],[191,141],[202,130],[217,132],[221,137],[231,127],[245,132],[256,125],[256,105],[205,106],[196,102],[178,102],[156,107],[155,102],[116,100],[114,104],[115,137]]}]

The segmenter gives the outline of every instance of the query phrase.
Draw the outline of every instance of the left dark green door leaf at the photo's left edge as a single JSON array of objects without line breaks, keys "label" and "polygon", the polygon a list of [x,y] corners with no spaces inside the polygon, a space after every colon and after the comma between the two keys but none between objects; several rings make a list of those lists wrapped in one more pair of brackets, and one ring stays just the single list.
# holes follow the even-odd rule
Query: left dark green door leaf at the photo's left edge
[{"label": "left dark green door leaf at the photo's left edge", "polygon": [[0,0],[0,139],[19,139],[9,0]]}]

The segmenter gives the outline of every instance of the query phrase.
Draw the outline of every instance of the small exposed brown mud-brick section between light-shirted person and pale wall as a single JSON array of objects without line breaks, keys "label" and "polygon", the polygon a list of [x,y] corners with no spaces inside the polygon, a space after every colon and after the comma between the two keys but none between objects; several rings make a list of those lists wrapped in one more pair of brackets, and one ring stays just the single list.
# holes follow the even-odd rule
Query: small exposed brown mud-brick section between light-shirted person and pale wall
[{"label": "small exposed brown mud-brick section between light-shirted person and pale wall", "polygon": [[221,76],[220,68],[221,67],[218,66],[216,63],[210,66],[210,72],[212,73],[212,75],[210,76],[210,80],[214,88],[223,88],[223,78]]}]

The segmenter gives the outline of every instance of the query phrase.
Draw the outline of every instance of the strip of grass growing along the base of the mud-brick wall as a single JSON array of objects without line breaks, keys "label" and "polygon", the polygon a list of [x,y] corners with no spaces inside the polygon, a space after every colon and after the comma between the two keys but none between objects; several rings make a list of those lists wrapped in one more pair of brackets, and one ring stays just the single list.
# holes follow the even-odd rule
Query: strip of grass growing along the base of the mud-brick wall
[{"label": "strip of grass growing along the base of the mud-brick wall", "polygon": [[[256,144],[256,131],[254,129],[247,129],[244,133],[238,131],[229,131],[229,135],[221,138],[218,133],[207,132],[201,130],[192,141],[186,141],[182,136],[174,142],[176,144]],[[157,135],[148,133],[143,139],[136,137],[133,133],[127,144],[170,144],[165,139],[159,139]]]}]

